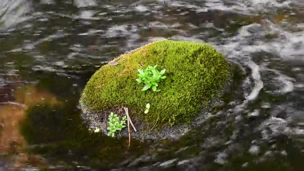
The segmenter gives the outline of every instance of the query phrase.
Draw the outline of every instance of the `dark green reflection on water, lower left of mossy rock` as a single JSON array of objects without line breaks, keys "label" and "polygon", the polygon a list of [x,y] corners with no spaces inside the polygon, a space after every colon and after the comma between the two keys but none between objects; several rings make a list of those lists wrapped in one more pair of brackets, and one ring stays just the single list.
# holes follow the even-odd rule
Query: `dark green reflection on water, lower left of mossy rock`
[{"label": "dark green reflection on water, lower left of mossy rock", "polygon": [[128,148],[127,139],[117,140],[88,130],[80,113],[68,106],[42,103],[29,107],[25,114],[20,129],[32,145],[29,150],[47,155],[54,163],[107,168],[124,158],[115,154],[134,155],[141,151],[135,140]]}]

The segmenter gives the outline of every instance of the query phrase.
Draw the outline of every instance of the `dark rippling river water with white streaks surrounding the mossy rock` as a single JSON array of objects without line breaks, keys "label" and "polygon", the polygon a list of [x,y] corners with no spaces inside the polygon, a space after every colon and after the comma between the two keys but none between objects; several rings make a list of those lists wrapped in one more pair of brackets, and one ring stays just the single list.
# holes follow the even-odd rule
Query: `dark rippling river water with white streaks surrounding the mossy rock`
[{"label": "dark rippling river water with white streaks surrounding the mossy rock", "polygon": [[[210,43],[243,77],[178,140],[87,130],[89,77],[160,39]],[[303,170],[304,1],[1,0],[0,139],[4,170]]]}]

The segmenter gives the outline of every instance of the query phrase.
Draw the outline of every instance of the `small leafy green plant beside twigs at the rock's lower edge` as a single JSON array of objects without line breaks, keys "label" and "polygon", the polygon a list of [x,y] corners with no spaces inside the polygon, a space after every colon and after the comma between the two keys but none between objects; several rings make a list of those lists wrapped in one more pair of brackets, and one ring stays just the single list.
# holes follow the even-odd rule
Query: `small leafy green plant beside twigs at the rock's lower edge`
[{"label": "small leafy green plant beside twigs at the rock's lower edge", "polygon": [[111,114],[108,115],[108,125],[109,126],[106,129],[109,130],[109,132],[107,135],[114,137],[115,132],[117,130],[120,131],[122,128],[125,127],[125,120],[126,120],[125,115],[122,117],[122,120],[120,120],[119,116],[117,114],[114,114],[113,112],[111,112]]}]

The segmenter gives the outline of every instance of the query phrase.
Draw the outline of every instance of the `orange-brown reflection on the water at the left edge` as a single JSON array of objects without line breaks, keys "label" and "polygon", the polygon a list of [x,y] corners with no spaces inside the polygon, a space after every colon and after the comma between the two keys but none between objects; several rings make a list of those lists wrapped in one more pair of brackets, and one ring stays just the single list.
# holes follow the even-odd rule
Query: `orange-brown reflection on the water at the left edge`
[{"label": "orange-brown reflection on the water at the left edge", "polygon": [[19,122],[24,118],[24,111],[30,105],[47,102],[58,103],[50,93],[27,85],[14,90],[14,103],[0,106],[0,152],[5,158],[7,168],[23,168],[27,163],[39,165],[39,156],[25,152],[26,142],[19,131]]}]

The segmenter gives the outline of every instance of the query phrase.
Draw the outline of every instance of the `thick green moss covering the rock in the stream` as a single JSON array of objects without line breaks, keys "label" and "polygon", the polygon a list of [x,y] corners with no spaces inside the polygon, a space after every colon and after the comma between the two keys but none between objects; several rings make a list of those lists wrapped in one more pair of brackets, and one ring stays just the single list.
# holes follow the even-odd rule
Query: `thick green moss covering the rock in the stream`
[{"label": "thick green moss covering the rock in the stream", "polygon": [[[96,112],[127,106],[132,118],[139,116],[148,125],[158,117],[158,126],[190,122],[219,94],[230,74],[222,54],[208,44],[189,41],[151,43],[113,61],[119,64],[103,65],[87,82],[81,107]],[[160,91],[141,91],[135,80],[137,69],[155,64],[158,70],[166,69],[166,78],[157,87]],[[148,114],[144,114],[146,103],[151,106]]]}]

